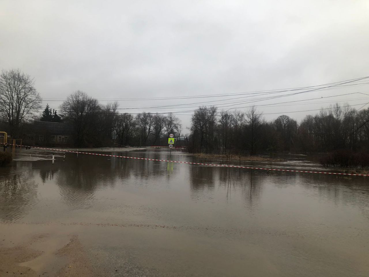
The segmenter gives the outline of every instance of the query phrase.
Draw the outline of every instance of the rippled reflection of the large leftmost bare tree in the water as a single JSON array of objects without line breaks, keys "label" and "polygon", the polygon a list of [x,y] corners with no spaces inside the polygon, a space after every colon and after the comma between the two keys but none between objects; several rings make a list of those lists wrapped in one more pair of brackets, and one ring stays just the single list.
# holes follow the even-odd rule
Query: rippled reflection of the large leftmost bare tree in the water
[{"label": "rippled reflection of the large leftmost bare tree in the water", "polygon": [[32,171],[8,172],[0,178],[0,219],[7,222],[23,218],[36,203],[37,185]]}]

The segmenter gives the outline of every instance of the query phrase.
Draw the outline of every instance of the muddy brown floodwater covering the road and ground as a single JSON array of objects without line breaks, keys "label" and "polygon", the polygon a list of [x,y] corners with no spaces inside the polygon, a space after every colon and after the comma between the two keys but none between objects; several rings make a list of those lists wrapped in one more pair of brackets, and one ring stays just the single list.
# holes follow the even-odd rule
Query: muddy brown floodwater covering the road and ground
[{"label": "muddy brown floodwater covering the road and ground", "polygon": [[[111,153],[200,161],[168,150]],[[57,248],[75,235],[101,276],[369,276],[367,177],[72,153],[53,163],[51,154],[17,149],[0,168],[0,247],[47,233]],[[57,264],[44,256],[26,265]]]}]

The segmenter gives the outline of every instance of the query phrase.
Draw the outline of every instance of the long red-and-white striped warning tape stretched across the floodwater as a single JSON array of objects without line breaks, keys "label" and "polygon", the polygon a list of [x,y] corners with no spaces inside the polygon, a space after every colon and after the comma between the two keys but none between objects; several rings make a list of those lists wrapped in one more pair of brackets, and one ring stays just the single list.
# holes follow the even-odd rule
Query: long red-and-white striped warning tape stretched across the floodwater
[{"label": "long red-and-white striped warning tape stretched across the floodwater", "polygon": [[[20,145],[17,145],[17,144],[15,144],[15,145],[16,146],[20,146]],[[80,152],[80,151],[63,150],[63,149],[55,149],[55,148],[45,148],[45,147],[36,147],[36,146],[23,146],[23,147],[31,147],[31,148],[38,148],[38,149],[44,149],[44,150],[68,152],[68,153],[89,154],[89,155],[106,156],[106,157],[116,157],[116,158],[127,158],[127,159],[135,159],[135,160],[163,161],[163,162],[180,163],[180,164],[207,165],[207,166],[213,166],[213,167],[232,167],[232,168],[245,168],[245,169],[254,169],[254,170],[270,170],[270,171],[300,172],[300,173],[320,173],[320,174],[331,174],[331,175],[369,176],[369,174],[323,172],[323,171],[306,171],[306,170],[290,170],[290,169],[263,168],[263,167],[245,167],[245,166],[241,166],[241,165],[193,163],[193,162],[186,162],[186,161],[171,161],[171,160],[160,160],[160,159],[151,159],[151,158],[139,158],[139,157],[129,157],[129,156],[120,156],[120,155],[98,154],[98,153]]]}]

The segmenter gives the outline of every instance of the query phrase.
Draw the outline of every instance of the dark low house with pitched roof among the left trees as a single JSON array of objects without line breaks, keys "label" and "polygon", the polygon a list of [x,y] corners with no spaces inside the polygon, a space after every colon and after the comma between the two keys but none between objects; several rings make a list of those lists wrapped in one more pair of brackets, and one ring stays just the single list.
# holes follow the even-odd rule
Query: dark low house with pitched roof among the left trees
[{"label": "dark low house with pitched roof among the left trees", "polygon": [[35,121],[24,134],[23,145],[72,146],[73,128],[68,123]]}]

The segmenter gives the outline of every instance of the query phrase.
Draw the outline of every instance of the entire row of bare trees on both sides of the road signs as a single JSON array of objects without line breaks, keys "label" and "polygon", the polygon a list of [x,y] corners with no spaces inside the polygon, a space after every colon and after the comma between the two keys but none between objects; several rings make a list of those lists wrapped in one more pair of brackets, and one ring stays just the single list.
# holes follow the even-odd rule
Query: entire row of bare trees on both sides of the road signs
[{"label": "entire row of bare trees on both sides of the road signs", "polygon": [[[166,144],[169,133],[183,136],[182,124],[172,113],[119,113],[118,104],[102,105],[97,99],[77,90],[59,107],[46,106],[34,80],[19,69],[0,75],[0,120],[12,137],[21,137],[23,127],[32,120],[65,122],[73,127],[77,147]],[[335,104],[307,115],[300,123],[287,115],[265,120],[261,111],[224,111],[215,106],[194,110],[188,140],[181,144],[191,153],[317,153],[347,150],[367,152],[369,146],[369,109],[356,110]],[[347,152],[347,153],[351,153]],[[360,159],[360,158],[358,158]]]}]

